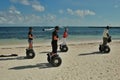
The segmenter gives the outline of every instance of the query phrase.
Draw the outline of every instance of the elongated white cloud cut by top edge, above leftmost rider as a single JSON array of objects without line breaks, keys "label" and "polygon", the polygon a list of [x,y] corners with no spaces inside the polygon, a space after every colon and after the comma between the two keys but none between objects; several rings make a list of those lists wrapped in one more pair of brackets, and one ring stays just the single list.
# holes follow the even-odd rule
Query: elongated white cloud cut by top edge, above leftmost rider
[{"label": "elongated white cloud cut by top edge, above leftmost rider", "polygon": [[37,0],[10,0],[13,3],[20,3],[22,5],[31,6],[34,10],[43,12],[45,7],[40,4]]}]

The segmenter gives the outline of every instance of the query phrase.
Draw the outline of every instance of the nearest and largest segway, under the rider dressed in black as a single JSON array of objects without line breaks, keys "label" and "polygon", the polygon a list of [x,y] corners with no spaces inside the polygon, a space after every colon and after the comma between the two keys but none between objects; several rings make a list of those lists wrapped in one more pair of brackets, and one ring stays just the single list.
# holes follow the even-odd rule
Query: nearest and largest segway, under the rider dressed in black
[{"label": "nearest and largest segway, under the rider dressed in black", "polygon": [[50,55],[50,53],[47,54],[47,61],[52,64],[54,67],[58,67],[62,63],[62,59],[59,57],[58,54],[55,54],[53,56]]}]

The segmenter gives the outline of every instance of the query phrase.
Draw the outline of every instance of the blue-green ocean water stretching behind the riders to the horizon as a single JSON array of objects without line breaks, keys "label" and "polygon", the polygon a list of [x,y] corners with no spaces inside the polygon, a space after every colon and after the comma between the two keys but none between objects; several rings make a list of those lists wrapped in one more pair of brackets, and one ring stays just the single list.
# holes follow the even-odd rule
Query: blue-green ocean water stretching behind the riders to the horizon
[{"label": "blue-green ocean water stretching behind the riders to the horizon", "polygon": [[[29,27],[0,27],[0,45],[27,43]],[[53,27],[33,27],[35,43],[50,42]],[[104,27],[68,27],[68,41],[100,40],[102,39]],[[59,38],[62,38],[64,28],[59,30]],[[120,39],[120,27],[111,27],[109,30],[113,40]]]}]

